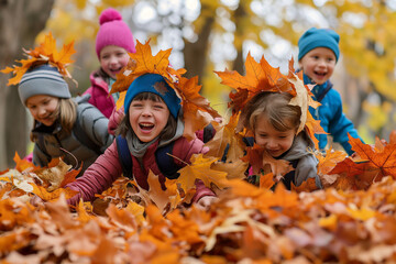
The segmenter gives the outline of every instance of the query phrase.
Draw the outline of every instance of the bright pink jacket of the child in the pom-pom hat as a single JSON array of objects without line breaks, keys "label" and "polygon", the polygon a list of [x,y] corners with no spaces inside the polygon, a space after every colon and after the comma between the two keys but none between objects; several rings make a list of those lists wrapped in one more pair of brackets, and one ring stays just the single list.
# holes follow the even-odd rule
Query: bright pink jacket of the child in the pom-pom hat
[{"label": "bright pink jacket of the child in the pom-pom hat", "polygon": [[89,79],[91,87],[84,95],[90,94],[91,98],[88,102],[97,107],[106,118],[110,118],[111,112],[116,108],[114,99],[109,94],[110,87],[101,77],[96,76],[95,73],[89,76]]}]

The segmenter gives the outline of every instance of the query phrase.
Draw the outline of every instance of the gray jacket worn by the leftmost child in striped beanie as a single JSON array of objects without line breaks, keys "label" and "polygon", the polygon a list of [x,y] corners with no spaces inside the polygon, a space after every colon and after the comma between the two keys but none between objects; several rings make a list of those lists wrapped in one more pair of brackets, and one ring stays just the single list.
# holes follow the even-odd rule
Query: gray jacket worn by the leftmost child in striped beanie
[{"label": "gray jacket worn by the leftmost child in striped beanie", "polygon": [[99,154],[103,153],[112,143],[114,138],[108,132],[109,120],[88,102],[89,98],[90,95],[74,98],[77,103],[77,121],[85,132],[85,136],[98,146],[99,153],[77,139],[76,125],[74,125],[72,133],[66,133],[58,122],[55,122],[51,128],[37,123],[32,131],[38,139],[33,150],[33,163],[35,165],[46,166],[52,158],[64,156],[65,163],[75,168],[79,167],[82,162],[82,169],[79,174],[82,175]]}]

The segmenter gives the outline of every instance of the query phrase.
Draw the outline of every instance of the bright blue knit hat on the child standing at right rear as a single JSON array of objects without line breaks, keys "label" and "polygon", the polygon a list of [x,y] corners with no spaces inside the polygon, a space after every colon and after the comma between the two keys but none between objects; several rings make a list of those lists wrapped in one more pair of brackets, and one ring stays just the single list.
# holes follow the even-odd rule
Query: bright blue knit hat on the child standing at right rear
[{"label": "bright blue knit hat on the child standing at right rear", "polygon": [[340,35],[333,30],[310,28],[298,40],[298,61],[316,47],[330,48],[336,55],[336,62],[340,56]]}]

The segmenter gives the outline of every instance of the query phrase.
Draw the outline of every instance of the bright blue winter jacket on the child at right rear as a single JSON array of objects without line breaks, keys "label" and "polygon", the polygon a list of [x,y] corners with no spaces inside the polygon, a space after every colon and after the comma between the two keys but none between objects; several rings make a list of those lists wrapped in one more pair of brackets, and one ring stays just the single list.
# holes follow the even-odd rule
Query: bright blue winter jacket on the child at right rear
[{"label": "bright blue winter jacket on the child at right rear", "polygon": [[[312,84],[307,75],[304,75],[304,84]],[[316,120],[320,120],[320,125],[328,132],[334,142],[340,143],[345,152],[351,155],[351,144],[349,143],[348,133],[354,138],[362,140],[353,123],[342,111],[342,100],[340,94],[332,89],[330,80],[322,85],[317,85],[312,89],[314,99],[321,103],[317,109],[309,107],[309,111]],[[319,150],[323,151],[328,139],[326,134],[317,134],[319,140]],[[363,142],[363,140],[362,140]]]}]

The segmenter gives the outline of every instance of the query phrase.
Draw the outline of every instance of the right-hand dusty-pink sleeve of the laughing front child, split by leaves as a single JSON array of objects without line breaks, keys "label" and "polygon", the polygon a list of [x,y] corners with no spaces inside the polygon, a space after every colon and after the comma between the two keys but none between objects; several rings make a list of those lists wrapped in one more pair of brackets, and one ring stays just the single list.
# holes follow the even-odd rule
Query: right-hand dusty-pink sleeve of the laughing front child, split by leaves
[{"label": "right-hand dusty-pink sleeve of the laughing front child, split by leaves", "polygon": [[[190,164],[190,158],[193,154],[205,154],[208,151],[209,148],[207,146],[204,146],[204,142],[199,139],[188,141],[187,139],[182,138],[177,142],[175,142],[173,154],[182,161]],[[184,166],[185,164],[178,158],[175,158],[175,163],[179,166]],[[196,194],[193,197],[193,202],[197,202],[204,196],[216,196],[216,194],[209,187],[205,186],[202,180],[196,179],[195,185]]]}]

